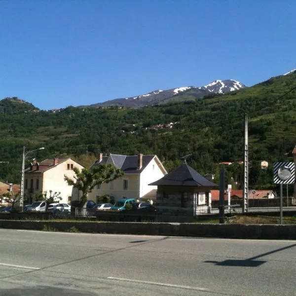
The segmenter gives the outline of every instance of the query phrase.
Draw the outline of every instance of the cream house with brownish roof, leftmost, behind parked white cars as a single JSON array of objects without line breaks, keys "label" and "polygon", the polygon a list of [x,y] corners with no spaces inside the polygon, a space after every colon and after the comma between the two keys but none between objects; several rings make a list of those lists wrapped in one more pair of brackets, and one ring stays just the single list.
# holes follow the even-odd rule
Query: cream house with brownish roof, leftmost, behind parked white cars
[{"label": "cream house with brownish roof, leftmost, behind parked white cars", "polygon": [[37,193],[49,190],[53,192],[61,192],[61,202],[70,203],[72,198],[73,186],[64,180],[64,175],[74,178],[73,168],[80,170],[83,168],[81,164],[71,158],[53,158],[45,159],[41,162],[34,161],[30,167],[25,170],[24,195],[30,201]]}]

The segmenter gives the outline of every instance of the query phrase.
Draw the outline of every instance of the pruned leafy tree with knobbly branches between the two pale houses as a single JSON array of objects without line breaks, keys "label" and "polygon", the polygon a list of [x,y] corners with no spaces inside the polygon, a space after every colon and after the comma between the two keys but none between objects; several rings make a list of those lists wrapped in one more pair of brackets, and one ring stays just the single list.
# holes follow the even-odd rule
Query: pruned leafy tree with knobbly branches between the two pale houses
[{"label": "pruned leafy tree with knobbly branches between the two pale houses", "polygon": [[75,173],[74,180],[66,175],[64,175],[64,180],[68,182],[69,185],[74,186],[74,188],[82,192],[80,207],[85,205],[87,194],[90,193],[96,185],[109,183],[124,174],[112,164],[101,164],[91,169],[83,168],[81,170],[74,167],[73,171]]}]

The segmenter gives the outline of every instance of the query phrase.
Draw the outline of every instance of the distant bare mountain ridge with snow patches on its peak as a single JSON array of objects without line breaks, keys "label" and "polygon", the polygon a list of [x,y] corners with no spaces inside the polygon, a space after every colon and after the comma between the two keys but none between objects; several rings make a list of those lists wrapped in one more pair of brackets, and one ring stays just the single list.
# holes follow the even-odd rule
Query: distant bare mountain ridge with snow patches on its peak
[{"label": "distant bare mountain ridge with snow patches on its peak", "polygon": [[[186,97],[201,99],[207,95],[220,93],[225,94],[234,90],[239,90],[246,87],[239,81],[233,79],[227,80],[215,80],[205,86],[195,87],[195,86],[184,86],[177,87],[167,90],[154,90],[147,94],[115,99],[111,101],[106,101],[104,103],[97,103],[90,105],[91,107],[107,107],[107,106],[119,106],[119,107],[131,107],[140,108],[148,105],[164,104],[170,101],[185,101]],[[185,94],[187,95],[185,97]]]}]

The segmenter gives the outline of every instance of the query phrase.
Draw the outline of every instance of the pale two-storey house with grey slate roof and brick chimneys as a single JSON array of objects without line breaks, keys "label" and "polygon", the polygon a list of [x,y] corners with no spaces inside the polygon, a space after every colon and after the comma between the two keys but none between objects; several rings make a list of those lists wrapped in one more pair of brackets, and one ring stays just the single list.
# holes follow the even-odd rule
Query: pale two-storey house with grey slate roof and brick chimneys
[{"label": "pale two-storey house with grey slate roof and brick chimneys", "polygon": [[113,164],[124,172],[124,175],[108,184],[97,185],[88,199],[95,202],[102,195],[108,194],[113,201],[121,198],[135,198],[147,200],[156,198],[157,186],[149,186],[167,174],[166,169],[156,155],[118,155],[103,156],[100,153],[98,160],[91,166]]}]

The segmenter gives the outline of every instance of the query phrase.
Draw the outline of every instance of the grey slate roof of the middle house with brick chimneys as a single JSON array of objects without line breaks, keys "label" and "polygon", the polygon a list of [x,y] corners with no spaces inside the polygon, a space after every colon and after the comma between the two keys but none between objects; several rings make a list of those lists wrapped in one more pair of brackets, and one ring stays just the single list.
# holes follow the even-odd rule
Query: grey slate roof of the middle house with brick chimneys
[{"label": "grey slate roof of the middle house with brick chimneys", "polygon": [[103,156],[101,162],[96,161],[93,166],[98,166],[100,164],[113,164],[116,168],[121,169],[123,172],[127,174],[137,174],[141,173],[148,163],[155,157],[155,155],[143,155],[142,158],[142,168],[138,170],[138,155],[118,155],[118,154],[110,154],[110,156]]}]

